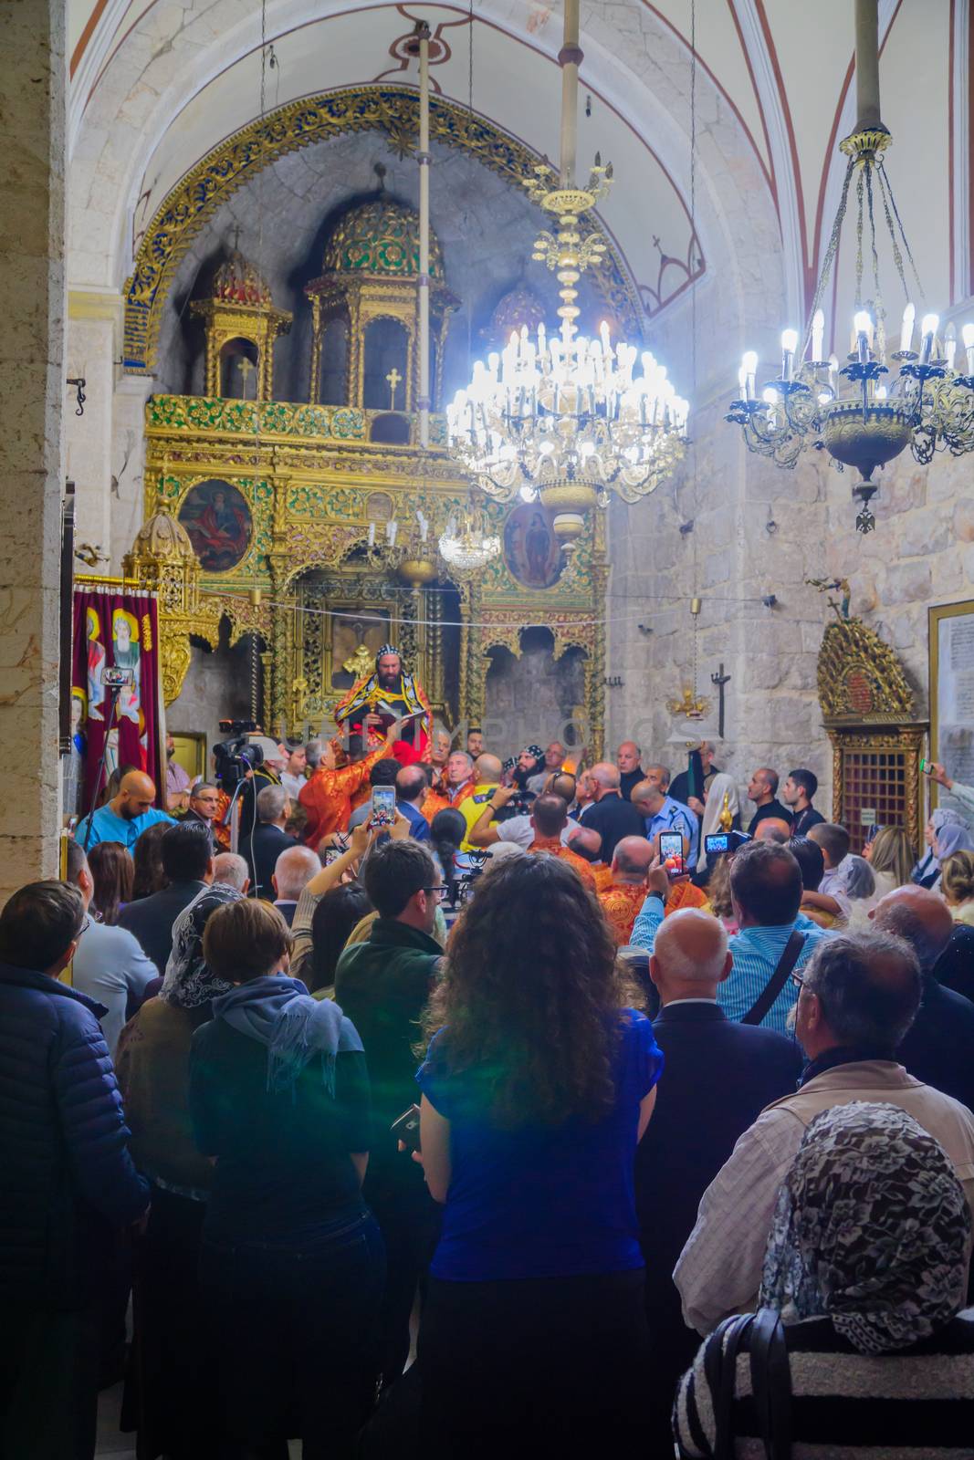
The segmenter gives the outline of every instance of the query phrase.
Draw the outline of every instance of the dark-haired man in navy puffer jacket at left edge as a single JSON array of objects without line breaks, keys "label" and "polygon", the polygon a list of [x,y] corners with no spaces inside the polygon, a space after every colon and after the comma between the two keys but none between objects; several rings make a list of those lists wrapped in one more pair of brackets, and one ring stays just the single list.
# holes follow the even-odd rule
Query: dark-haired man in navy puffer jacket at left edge
[{"label": "dark-haired man in navy puffer jacket at left edge", "polygon": [[86,921],[63,882],[32,882],[0,912],[1,1456],[93,1456],[104,1264],[149,1202],[105,1010],[58,983]]}]

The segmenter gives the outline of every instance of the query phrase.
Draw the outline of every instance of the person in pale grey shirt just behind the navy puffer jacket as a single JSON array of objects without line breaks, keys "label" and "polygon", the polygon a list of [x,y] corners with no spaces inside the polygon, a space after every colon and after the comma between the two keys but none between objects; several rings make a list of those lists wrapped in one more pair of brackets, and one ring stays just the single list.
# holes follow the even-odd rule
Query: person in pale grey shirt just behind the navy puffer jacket
[{"label": "person in pale grey shirt just behind the navy puffer jacket", "polygon": [[[95,882],[88,857],[76,841],[67,844],[66,882],[77,888],[88,912]],[[123,1025],[136,1012],[159,971],[129,929],[107,927],[93,920],[88,920],[86,926],[88,931],[74,953],[72,983],[101,1007],[101,1028],[114,1060]]]}]

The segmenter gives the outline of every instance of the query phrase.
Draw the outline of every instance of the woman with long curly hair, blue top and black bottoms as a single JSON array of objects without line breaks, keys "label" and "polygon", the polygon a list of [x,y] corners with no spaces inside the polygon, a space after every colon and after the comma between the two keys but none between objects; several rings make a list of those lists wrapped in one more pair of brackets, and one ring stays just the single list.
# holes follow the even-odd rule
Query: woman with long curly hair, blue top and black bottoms
[{"label": "woman with long curly hair, blue top and black bottoms", "polygon": [[663,1056],[628,999],[558,857],[499,866],[457,920],[416,1076],[445,1204],[419,1332],[434,1453],[644,1451],[632,1165]]}]

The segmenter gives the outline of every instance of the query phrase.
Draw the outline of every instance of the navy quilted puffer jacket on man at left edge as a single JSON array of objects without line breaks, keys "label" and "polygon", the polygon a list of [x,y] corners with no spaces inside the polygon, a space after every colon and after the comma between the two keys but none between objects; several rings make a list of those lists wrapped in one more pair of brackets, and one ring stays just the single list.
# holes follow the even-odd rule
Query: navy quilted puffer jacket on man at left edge
[{"label": "navy quilted puffer jacket on man at left edge", "polygon": [[147,1204],[99,1013],[0,964],[0,1302],[85,1304],[111,1228]]}]

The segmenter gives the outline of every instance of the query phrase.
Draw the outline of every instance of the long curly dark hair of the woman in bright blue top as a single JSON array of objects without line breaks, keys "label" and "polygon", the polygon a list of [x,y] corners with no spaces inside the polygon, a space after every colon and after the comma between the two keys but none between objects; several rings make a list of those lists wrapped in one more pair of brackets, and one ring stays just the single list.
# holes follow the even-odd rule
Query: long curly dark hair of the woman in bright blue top
[{"label": "long curly dark hair of the woman in bright blue top", "polygon": [[[526,929],[532,936],[526,937]],[[629,990],[594,899],[559,857],[515,857],[460,914],[425,1028],[501,1127],[602,1120]]]}]

